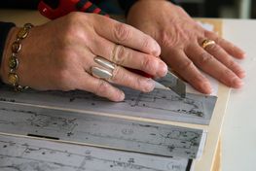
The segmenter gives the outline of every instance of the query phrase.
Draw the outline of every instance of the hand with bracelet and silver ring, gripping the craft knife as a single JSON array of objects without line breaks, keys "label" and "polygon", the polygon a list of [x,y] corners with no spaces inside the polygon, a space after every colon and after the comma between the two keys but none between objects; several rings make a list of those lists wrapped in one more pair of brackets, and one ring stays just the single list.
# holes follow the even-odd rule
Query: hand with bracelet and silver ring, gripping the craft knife
[{"label": "hand with bracelet and silver ring, gripping the craft knife", "polygon": [[[1,67],[8,83],[8,59],[18,28],[10,32]],[[128,71],[141,70],[163,77],[167,67],[159,57],[158,43],[143,32],[108,17],[72,13],[30,29],[18,52],[19,85],[39,90],[91,91],[113,101],[125,98],[123,91],[108,82],[141,91],[151,91],[154,81]],[[102,68],[95,56],[117,64],[107,81],[91,76],[91,67]]]}]

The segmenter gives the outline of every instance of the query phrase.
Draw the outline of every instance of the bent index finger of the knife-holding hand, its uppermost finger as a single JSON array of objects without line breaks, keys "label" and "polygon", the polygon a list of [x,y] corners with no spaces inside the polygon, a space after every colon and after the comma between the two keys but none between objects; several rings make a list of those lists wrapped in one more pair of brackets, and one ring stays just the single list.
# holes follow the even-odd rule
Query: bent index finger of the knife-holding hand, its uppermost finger
[{"label": "bent index finger of the knife-holding hand, its uppermost finger", "polygon": [[138,29],[107,17],[95,16],[94,29],[96,33],[111,42],[130,49],[159,56],[161,53],[158,43]]}]

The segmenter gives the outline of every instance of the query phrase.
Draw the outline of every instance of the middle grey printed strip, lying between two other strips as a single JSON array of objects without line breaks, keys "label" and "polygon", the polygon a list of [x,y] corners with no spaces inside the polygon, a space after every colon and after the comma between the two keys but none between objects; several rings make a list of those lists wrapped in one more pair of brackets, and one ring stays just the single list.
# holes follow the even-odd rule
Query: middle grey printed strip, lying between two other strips
[{"label": "middle grey printed strip, lying between two other strips", "polygon": [[0,102],[0,132],[141,154],[197,158],[200,129]]}]

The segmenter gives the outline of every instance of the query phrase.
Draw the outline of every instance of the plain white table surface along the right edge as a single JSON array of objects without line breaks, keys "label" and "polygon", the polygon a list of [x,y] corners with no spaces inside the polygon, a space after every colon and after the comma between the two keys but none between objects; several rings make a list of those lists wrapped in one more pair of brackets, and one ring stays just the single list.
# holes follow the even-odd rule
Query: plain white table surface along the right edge
[{"label": "plain white table surface along the right edge", "polygon": [[225,19],[224,38],[244,51],[245,85],[232,90],[222,129],[222,170],[256,170],[256,20]]}]

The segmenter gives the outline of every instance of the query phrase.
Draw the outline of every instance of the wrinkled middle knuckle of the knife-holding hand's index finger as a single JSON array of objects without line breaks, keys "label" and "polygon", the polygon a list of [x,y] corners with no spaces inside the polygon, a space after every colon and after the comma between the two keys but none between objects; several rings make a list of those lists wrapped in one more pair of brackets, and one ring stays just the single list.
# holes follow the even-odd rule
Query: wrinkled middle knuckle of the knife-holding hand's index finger
[{"label": "wrinkled middle knuckle of the knife-holding hand's index finger", "polygon": [[124,23],[116,23],[114,25],[114,38],[120,43],[127,41],[131,37],[130,26]]}]

